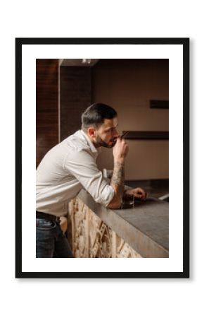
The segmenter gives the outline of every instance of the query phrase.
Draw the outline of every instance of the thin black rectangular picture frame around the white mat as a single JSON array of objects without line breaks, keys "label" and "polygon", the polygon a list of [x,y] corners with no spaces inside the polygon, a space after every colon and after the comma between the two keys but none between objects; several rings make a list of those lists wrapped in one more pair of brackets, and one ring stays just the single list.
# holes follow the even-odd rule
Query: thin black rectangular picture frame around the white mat
[{"label": "thin black rectangular picture frame around the white mat", "polygon": [[[15,39],[15,278],[189,278],[189,38]],[[22,269],[22,47],[23,45],[182,45],[183,47],[183,271],[26,272]]]}]

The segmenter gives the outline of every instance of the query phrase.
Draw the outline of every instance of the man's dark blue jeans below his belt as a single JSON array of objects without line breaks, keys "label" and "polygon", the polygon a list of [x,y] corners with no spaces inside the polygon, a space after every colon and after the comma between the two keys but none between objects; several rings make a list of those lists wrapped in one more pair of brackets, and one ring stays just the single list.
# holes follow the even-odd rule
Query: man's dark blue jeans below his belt
[{"label": "man's dark blue jeans below his belt", "polygon": [[36,257],[73,257],[60,221],[36,219]]}]

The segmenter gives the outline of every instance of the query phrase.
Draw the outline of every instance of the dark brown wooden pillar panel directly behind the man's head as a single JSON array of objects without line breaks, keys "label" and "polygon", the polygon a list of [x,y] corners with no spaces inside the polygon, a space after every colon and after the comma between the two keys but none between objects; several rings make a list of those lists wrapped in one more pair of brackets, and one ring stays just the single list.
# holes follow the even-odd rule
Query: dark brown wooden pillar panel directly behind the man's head
[{"label": "dark brown wooden pillar panel directly behind the man's head", "polygon": [[60,140],[81,129],[91,104],[91,67],[60,66]]}]

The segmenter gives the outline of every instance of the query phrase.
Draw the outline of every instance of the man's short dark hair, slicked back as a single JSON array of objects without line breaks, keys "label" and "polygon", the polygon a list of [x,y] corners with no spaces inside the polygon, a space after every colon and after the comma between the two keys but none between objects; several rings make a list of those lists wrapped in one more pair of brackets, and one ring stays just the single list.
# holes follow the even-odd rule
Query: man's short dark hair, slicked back
[{"label": "man's short dark hair, slicked back", "polygon": [[117,112],[112,107],[95,102],[82,114],[82,129],[86,131],[89,126],[98,128],[98,126],[103,124],[104,119],[113,119],[115,117],[117,117]]}]

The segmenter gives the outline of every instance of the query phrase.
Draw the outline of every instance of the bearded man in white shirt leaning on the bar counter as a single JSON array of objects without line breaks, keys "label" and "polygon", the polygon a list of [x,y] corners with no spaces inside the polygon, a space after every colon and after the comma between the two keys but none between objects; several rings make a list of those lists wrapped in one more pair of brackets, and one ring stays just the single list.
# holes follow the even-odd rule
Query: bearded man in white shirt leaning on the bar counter
[{"label": "bearded man in white shirt leaning on the bar counter", "polygon": [[[82,114],[82,129],[51,148],[37,167],[36,257],[73,257],[60,216],[68,213],[68,202],[82,188],[107,208],[120,208],[124,196],[146,199],[141,188],[125,190],[128,146],[117,125],[112,107],[94,103]],[[96,165],[101,147],[113,148],[110,183]]]}]

